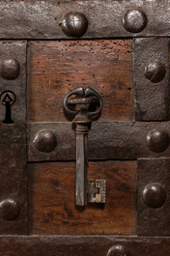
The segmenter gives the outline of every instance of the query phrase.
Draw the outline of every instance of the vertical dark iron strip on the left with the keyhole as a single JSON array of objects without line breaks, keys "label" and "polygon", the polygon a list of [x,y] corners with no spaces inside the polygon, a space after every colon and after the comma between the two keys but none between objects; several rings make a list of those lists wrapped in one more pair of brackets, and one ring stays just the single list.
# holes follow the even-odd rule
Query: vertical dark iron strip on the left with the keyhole
[{"label": "vertical dark iron strip on the left with the keyhole", "polygon": [[[0,234],[27,234],[26,44],[0,42],[0,93],[16,98],[8,110],[14,124],[0,124]],[[1,97],[1,122],[9,100]]]}]

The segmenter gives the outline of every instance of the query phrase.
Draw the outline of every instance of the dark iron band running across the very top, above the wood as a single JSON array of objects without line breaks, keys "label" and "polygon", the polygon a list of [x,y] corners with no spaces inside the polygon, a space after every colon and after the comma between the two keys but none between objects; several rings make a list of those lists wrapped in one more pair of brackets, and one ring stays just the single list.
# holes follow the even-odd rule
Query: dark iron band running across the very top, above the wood
[{"label": "dark iron band running across the very top, above the wood", "polygon": [[[169,0],[163,1],[1,1],[0,37],[7,39],[68,39],[59,26],[63,14],[85,14],[88,29],[83,38],[168,37],[170,36]],[[131,9],[143,11],[146,27],[140,31],[139,15],[129,32],[123,16]],[[142,17],[141,17],[142,18]],[[128,19],[130,24],[130,18]],[[8,29],[7,29],[8,27]]]}]

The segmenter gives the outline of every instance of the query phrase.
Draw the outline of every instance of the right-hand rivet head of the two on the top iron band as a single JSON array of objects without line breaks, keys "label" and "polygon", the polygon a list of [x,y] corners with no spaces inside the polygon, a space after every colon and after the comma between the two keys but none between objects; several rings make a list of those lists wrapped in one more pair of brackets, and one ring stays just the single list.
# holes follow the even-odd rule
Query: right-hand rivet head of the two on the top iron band
[{"label": "right-hand rivet head of the two on the top iron band", "polygon": [[131,33],[141,32],[147,24],[147,16],[138,9],[128,10],[123,17],[125,29]]}]

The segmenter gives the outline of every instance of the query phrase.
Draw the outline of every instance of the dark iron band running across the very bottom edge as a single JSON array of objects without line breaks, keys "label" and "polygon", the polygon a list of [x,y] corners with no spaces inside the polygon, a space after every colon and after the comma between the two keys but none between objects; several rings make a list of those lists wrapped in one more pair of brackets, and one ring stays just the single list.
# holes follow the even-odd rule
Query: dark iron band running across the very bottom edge
[{"label": "dark iron band running across the very bottom edge", "polygon": [[[5,251],[6,256],[107,256],[109,249],[118,245],[123,246],[130,256],[168,256],[170,253],[170,242],[166,237],[3,236],[0,238],[0,249]],[[112,255],[114,254],[108,256]]]}]

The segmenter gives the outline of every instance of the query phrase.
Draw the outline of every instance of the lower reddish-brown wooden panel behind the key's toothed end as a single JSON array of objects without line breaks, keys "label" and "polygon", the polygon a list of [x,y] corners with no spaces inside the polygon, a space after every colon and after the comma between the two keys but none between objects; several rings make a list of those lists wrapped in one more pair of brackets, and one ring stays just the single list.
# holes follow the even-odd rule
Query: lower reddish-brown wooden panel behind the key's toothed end
[{"label": "lower reddish-brown wooden panel behind the key's toothed end", "polygon": [[135,234],[136,161],[89,162],[107,180],[106,203],[75,206],[75,163],[28,164],[29,234]]}]

